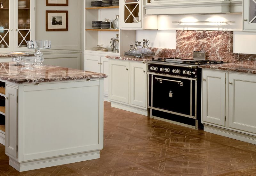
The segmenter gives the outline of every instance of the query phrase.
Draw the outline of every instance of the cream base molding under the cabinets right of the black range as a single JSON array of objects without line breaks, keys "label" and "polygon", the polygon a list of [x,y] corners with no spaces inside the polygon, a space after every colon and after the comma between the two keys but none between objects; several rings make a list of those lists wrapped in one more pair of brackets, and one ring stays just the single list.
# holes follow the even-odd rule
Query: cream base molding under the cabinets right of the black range
[{"label": "cream base molding under the cabinets right of the black range", "polygon": [[229,138],[236,139],[239,141],[256,144],[256,136],[247,135],[245,133],[240,133],[240,132],[232,131],[229,129],[214,127],[214,126],[207,125],[207,124],[204,124],[204,131],[213,133],[216,135],[220,135],[220,136],[229,137]]}]

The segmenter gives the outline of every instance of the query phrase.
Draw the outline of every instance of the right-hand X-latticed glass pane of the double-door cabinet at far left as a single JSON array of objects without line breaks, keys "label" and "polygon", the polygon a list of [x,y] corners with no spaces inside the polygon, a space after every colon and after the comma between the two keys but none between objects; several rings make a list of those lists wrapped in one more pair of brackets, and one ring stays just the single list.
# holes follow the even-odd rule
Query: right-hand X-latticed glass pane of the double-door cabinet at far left
[{"label": "right-hand X-latticed glass pane of the double-door cabinet at far left", "polygon": [[30,40],[30,0],[18,1],[18,48]]}]

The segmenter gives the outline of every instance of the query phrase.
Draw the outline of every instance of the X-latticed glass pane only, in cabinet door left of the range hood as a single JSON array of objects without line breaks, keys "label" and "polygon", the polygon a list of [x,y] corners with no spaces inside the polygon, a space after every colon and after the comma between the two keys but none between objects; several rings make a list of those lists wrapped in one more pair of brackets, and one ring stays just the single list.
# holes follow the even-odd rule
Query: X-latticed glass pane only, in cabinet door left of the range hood
[{"label": "X-latticed glass pane only, in cabinet door left of the range hood", "polygon": [[139,23],[139,0],[124,1],[124,23]]}]

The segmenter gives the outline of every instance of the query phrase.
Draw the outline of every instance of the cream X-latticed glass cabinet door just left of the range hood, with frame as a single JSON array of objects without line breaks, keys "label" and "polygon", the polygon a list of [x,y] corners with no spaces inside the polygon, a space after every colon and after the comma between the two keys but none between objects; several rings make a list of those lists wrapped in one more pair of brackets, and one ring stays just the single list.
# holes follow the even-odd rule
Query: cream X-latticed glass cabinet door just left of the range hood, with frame
[{"label": "cream X-latticed glass cabinet door just left of the range hood, with frame", "polygon": [[121,29],[142,27],[142,1],[121,0]]}]

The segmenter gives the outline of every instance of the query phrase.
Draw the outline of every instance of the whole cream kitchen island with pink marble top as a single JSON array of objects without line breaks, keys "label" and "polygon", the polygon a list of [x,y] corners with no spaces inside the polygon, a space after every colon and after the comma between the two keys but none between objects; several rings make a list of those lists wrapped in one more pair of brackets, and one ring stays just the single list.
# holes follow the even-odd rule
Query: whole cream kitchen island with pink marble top
[{"label": "whole cream kitchen island with pink marble top", "polygon": [[13,64],[0,63],[9,164],[22,172],[100,158],[106,75]]}]

